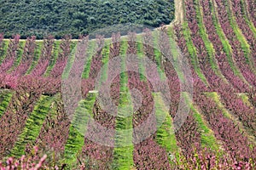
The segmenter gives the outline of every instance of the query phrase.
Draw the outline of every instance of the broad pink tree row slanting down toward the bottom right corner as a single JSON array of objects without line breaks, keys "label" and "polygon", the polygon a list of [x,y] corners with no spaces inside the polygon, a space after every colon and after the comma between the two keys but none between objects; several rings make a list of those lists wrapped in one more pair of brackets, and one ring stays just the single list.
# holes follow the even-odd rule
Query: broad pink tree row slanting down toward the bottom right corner
[{"label": "broad pink tree row slanting down toward the bottom right corner", "polygon": [[195,103],[199,105],[216,137],[223,141],[225,150],[230,152],[234,160],[247,162],[255,159],[255,146],[251,149],[247,137],[240,133],[234,122],[224,117],[215,102],[201,94],[197,96]]}]

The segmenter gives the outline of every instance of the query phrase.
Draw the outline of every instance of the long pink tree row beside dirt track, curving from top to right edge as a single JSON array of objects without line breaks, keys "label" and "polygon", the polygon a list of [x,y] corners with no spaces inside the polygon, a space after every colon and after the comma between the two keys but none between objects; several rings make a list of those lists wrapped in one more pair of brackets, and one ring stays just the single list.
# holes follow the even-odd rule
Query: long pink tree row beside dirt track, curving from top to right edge
[{"label": "long pink tree row beside dirt track, curving from top to right edge", "polygon": [[234,115],[238,116],[244,126],[249,127],[255,135],[255,111],[253,108],[248,107],[236,95],[236,91],[230,86],[229,83],[224,82],[212,71],[211,63],[208,61],[208,54],[206,44],[200,36],[200,28],[196,20],[191,20],[189,17],[196,18],[195,4],[192,0],[185,2],[186,16],[188,17],[189,29],[191,31],[191,39],[195,45],[200,60],[201,71],[206,75],[207,81],[210,83],[212,91],[216,91],[221,95],[221,101],[225,107],[228,108]]}]

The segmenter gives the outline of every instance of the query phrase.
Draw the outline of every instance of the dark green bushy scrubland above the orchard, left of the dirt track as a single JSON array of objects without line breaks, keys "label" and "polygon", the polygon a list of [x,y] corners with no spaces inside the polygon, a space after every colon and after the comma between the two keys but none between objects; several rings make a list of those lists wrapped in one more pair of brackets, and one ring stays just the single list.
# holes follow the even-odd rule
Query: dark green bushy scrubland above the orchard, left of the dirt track
[{"label": "dark green bushy scrubland above the orchard, left of the dirt track", "polygon": [[169,24],[174,19],[174,1],[11,0],[1,1],[0,16],[0,32],[5,37],[19,33],[21,38],[35,35],[42,39],[47,34],[78,38],[114,24]]}]

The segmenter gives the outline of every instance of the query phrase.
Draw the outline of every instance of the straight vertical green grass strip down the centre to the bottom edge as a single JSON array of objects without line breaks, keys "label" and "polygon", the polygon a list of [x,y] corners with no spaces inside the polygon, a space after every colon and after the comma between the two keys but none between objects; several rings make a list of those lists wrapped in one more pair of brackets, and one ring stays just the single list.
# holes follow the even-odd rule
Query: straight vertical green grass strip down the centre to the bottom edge
[{"label": "straight vertical green grass strip down the centre to the bottom edge", "polygon": [[[126,44],[126,43],[123,43]],[[122,50],[121,54],[125,51]],[[125,71],[125,58],[121,61],[121,71]],[[132,118],[133,118],[133,104],[131,99],[131,94],[125,82],[128,81],[126,72],[120,75],[120,99],[118,116],[116,116],[116,134],[115,134],[115,147],[113,149],[113,164],[117,165],[118,169],[131,169],[133,167],[133,149],[132,144],[132,131],[128,134],[122,133],[125,130],[132,129]],[[127,115],[129,114],[129,115]],[[125,144],[125,145],[122,145]]]}]

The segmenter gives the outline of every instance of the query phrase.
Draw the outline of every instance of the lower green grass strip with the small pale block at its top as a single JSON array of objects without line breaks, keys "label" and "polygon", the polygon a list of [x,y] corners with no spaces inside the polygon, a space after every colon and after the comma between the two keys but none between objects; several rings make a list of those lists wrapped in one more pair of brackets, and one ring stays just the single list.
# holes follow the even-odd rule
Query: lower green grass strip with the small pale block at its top
[{"label": "lower green grass strip with the small pale block at its top", "polygon": [[86,99],[79,102],[79,107],[73,115],[64,153],[65,162],[68,165],[76,163],[77,155],[84,146],[84,133],[86,132],[87,122],[92,117],[95,100],[96,94],[88,94]]}]

